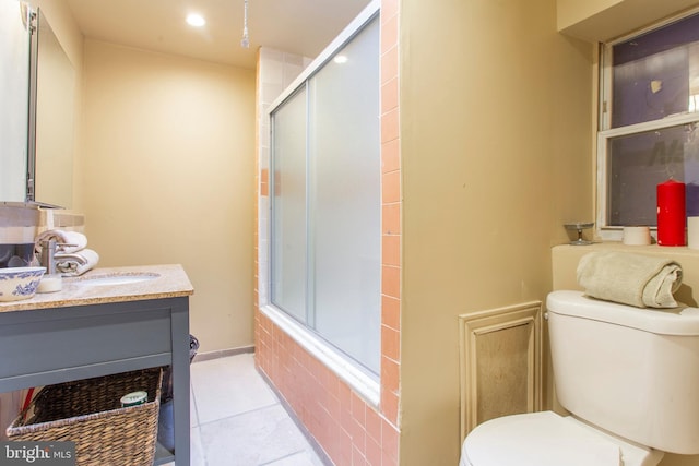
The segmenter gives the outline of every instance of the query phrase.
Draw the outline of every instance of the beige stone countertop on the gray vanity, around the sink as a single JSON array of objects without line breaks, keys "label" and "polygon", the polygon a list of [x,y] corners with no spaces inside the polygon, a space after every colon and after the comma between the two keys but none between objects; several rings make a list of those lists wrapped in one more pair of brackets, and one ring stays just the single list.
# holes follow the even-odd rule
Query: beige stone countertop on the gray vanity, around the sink
[{"label": "beige stone countertop on the gray vanity, around the sink", "polygon": [[[142,282],[118,285],[87,284],[94,278],[125,275],[154,275],[154,277]],[[0,302],[0,312],[141,301],[193,294],[192,284],[179,264],[95,268],[79,277],[63,277],[60,291],[37,292],[31,299]]]}]

